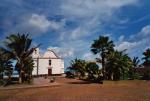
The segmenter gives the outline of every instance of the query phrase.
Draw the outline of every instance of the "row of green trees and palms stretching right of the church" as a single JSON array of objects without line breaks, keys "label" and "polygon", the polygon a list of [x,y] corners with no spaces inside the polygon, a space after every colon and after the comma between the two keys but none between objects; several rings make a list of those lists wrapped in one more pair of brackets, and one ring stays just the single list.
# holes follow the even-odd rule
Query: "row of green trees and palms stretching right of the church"
[{"label": "row of green trees and palms stretching right of the church", "polygon": [[[120,79],[138,79],[139,74],[136,68],[139,67],[138,57],[133,59],[126,54],[126,50],[117,51],[115,45],[109,37],[99,36],[91,44],[91,52],[99,55],[95,62],[86,60],[71,60],[70,67],[66,72],[67,77],[79,77],[87,80],[120,80]],[[143,52],[144,61],[140,66],[150,67],[150,49]],[[97,64],[101,65],[101,68]],[[149,75],[149,72],[148,72]]]}]

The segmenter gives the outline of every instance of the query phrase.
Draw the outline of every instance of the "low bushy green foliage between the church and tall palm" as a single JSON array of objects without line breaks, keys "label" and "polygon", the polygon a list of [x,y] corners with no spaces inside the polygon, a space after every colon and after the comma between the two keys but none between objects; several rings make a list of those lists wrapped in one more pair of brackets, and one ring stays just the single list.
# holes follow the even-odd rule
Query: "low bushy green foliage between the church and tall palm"
[{"label": "low bushy green foliage between the church and tall palm", "polygon": [[[71,61],[71,67],[68,68],[66,77],[88,80],[91,82],[101,82],[102,76],[99,66],[95,62],[86,62],[81,59]],[[73,72],[74,71],[74,72]]]}]

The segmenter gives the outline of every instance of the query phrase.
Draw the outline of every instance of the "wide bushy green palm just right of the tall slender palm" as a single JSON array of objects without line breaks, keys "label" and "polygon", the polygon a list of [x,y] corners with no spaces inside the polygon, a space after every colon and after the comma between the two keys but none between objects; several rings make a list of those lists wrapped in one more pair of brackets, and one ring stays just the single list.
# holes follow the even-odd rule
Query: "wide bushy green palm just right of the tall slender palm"
[{"label": "wide bushy green palm just right of the tall slender palm", "polygon": [[114,51],[108,56],[106,72],[109,79],[119,80],[121,76],[129,71],[132,66],[131,59],[123,52]]}]

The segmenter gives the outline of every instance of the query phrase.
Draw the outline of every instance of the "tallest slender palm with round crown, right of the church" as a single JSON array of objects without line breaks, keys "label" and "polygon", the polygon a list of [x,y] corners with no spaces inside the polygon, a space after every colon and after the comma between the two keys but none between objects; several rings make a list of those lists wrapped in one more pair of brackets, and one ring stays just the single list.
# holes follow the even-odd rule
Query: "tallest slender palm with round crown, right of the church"
[{"label": "tallest slender palm with round crown, right of the church", "polygon": [[97,60],[102,64],[102,72],[105,79],[105,62],[107,54],[109,54],[110,51],[114,50],[113,47],[113,41],[110,41],[109,37],[105,36],[99,36],[99,38],[97,40],[94,40],[91,45],[91,51],[94,54],[100,54],[101,58],[97,58]]}]

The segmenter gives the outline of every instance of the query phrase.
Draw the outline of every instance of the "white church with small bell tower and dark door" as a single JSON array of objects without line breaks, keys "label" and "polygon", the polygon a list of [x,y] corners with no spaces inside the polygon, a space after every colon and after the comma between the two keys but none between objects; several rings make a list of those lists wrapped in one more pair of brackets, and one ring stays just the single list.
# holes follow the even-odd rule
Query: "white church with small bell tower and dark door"
[{"label": "white church with small bell tower and dark door", "polygon": [[47,49],[42,56],[39,48],[37,48],[32,57],[34,59],[33,76],[62,75],[64,73],[64,60],[53,50]]}]

